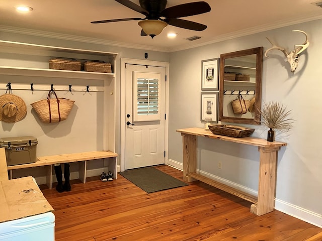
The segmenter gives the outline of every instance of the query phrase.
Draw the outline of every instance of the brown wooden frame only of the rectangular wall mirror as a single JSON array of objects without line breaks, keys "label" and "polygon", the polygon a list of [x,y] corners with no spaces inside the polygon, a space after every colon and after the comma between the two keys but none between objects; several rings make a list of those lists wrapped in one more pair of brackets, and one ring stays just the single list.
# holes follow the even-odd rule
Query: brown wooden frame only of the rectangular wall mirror
[{"label": "brown wooden frame only of the rectangular wall mirror", "polygon": [[[227,89],[224,87],[224,73],[225,73],[225,61],[227,59],[231,58],[246,58],[247,56],[250,55],[256,55],[256,70],[255,67],[252,68],[254,69],[253,71],[256,71],[254,73],[254,78],[255,82],[253,81],[253,86],[255,90],[255,112],[252,113],[252,117],[243,117],[243,115],[246,114],[226,114],[227,116],[224,115],[224,95],[226,95],[224,92],[227,92]],[[255,56],[254,56],[255,58]],[[247,67],[246,67],[247,68]],[[225,53],[220,55],[220,77],[219,77],[219,121],[221,122],[228,122],[228,123],[244,123],[244,124],[255,124],[255,125],[260,125],[260,112],[258,110],[261,109],[261,102],[262,102],[262,69],[263,69],[263,47],[258,47],[258,48],[253,48],[253,49],[246,49],[246,50],[241,50],[241,51],[236,51],[236,52],[231,52],[231,53]],[[226,81],[228,82],[228,81]],[[243,85],[243,81],[230,81],[232,84],[238,85]],[[249,82],[251,83],[251,82]],[[227,84],[226,84],[227,85]],[[226,86],[227,88],[227,86]],[[248,92],[248,87],[245,87],[245,91]],[[239,91],[240,89],[237,89]],[[231,92],[233,93],[233,92]],[[236,92],[238,93],[238,92]],[[254,92],[253,92],[254,93]],[[229,95],[229,93],[227,93]],[[238,95],[234,95],[235,97],[238,97]],[[246,96],[246,95],[243,95]],[[236,98],[235,98],[236,99]],[[229,106],[227,103],[225,103],[227,108],[231,107],[230,104],[231,101],[229,101]],[[232,107],[231,107],[232,110]],[[248,113],[249,115],[249,113]]]}]

